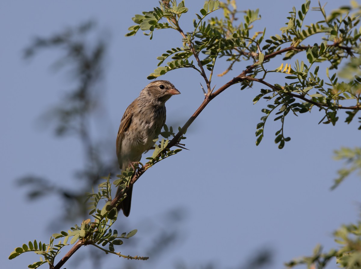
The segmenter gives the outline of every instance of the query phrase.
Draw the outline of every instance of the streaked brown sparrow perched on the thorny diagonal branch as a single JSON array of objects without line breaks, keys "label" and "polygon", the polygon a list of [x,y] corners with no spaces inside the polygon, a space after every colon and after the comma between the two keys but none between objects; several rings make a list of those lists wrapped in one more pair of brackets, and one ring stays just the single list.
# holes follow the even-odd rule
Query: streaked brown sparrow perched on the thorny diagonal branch
[{"label": "streaked brown sparrow perched on the thorny diagonal branch", "polygon": [[[165,123],[165,102],[174,94],[180,94],[174,85],[166,80],[149,83],[126,109],[120,122],[117,136],[117,157],[120,169],[139,162],[142,153],[153,147]],[[127,197],[118,205],[129,216],[133,186]],[[122,189],[117,190],[117,196]]]}]

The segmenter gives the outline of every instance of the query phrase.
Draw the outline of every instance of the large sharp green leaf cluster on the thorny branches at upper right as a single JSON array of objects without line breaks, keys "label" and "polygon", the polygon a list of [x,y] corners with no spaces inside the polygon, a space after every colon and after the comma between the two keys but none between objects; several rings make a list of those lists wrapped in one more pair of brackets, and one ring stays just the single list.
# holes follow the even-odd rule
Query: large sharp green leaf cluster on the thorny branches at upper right
[{"label": "large sharp green leaf cluster on the thorny branches at upper right", "polygon": [[[184,2],[181,3],[183,11],[188,11]],[[154,79],[177,68],[191,67],[203,76],[208,87],[208,94],[210,94],[212,92],[210,83],[216,59],[225,58],[227,62],[230,62],[229,68],[220,76],[226,75],[242,61],[251,61],[253,64],[246,66],[246,76],[233,80],[232,84],[241,83],[241,89],[245,89],[252,87],[255,82],[260,82],[268,87],[261,88],[260,93],[253,99],[254,103],[261,98],[273,101],[273,104],[266,104],[266,107],[261,109],[266,115],[262,116],[261,122],[257,124],[257,145],[264,137],[264,125],[272,113],[275,113],[274,120],[279,121],[281,125],[279,131],[275,133],[275,143],[279,148],[283,148],[285,142],[290,140],[284,135],[283,128],[288,112],[292,111],[293,114],[299,115],[317,107],[325,113],[320,122],[335,125],[339,120],[340,109],[349,110],[346,112],[347,123],[350,123],[361,109],[360,77],[356,75],[351,81],[338,81],[337,73],[333,71],[338,69],[344,59],[351,59],[349,67],[351,66],[353,70],[358,68],[359,60],[357,62],[358,58],[355,55],[361,55],[359,49],[361,32],[357,28],[360,24],[357,6],[342,7],[327,16],[324,6],[319,4],[315,8],[310,8],[310,1],[306,1],[300,5],[299,10],[293,7],[287,17],[286,26],[280,28],[280,35],[274,34],[269,39],[265,39],[266,28],[262,31],[254,30],[254,23],[261,18],[258,10],[246,10],[243,12],[243,21],[239,22],[237,16],[240,12],[237,10],[235,1],[226,3],[205,1],[199,14],[195,14],[193,30],[186,33],[183,33],[179,26],[180,14],[171,11],[177,3],[171,1],[168,4],[163,1],[160,8],[155,8],[152,15],[147,13],[145,17],[136,15],[133,18],[134,22],[139,24],[138,26],[147,22],[148,17],[157,18],[157,22],[153,22],[154,29],[164,28],[164,24],[158,24],[159,19],[163,18],[167,21],[167,25],[172,25],[170,28],[177,30],[183,36],[183,46],[171,48],[157,57],[158,67],[148,76],[148,79]],[[160,13],[158,9],[163,13]],[[311,9],[320,14],[320,20],[304,25],[305,18]],[[211,17],[217,10],[223,10],[223,17]],[[164,15],[164,12],[168,12],[167,15]],[[149,25],[147,30],[153,31]],[[315,35],[320,35],[320,42],[312,45],[303,44]],[[201,55],[204,56],[201,57]],[[296,55],[297,57],[304,55],[308,63],[296,59],[294,65],[286,63],[283,69],[282,63],[281,67],[274,69],[271,59],[277,55],[283,55],[283,60],[287,61]],[[191,57],[195,58],[197,64],[190,59]],[[168,62],[167,66],[161,66],[168,58],[172,61]],[[325,68],[325,65],[328,67]],[[330,73],[331,71],[333,73]],[[274,72],[284,74],[284,80],[289,82],[267,83],[266,77]],[[297,99],[301,102],[297,102]],[[343,104],[351,100],[354,102],[353,106]]]}]

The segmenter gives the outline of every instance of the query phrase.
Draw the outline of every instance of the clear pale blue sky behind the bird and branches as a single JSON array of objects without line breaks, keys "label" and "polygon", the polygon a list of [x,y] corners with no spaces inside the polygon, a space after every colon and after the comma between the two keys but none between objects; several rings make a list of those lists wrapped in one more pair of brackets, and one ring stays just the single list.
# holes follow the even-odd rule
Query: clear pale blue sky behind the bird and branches
[{"label": "clear pale blue sky behind the bird and branches", "polygon": [[[260,9],[262,19],[255,27],[261,31],[266,26],[266,37],[279,34],[292,6],[300,6],[295,0],[272,5],[263,0],[236,2],[239,9]],[[328,1],[327,11],[338,7],[337,2]],[[20,268],[38,260],[32,254],[22,254],[11,261],[7,257],[29,240],[47,242],[50,234],[59,232],[48,224],[62,221],[57,219],[61,203],[55,197],[29,202],[26,189],[19,188],[14,180],[36,174],[69,187],[74,170],[83,165],[77,140],[56,139],[51,129],[39,126],[43,112],[56,104],[64,89],[71,88],[69,74],[49,69],[58,57],[56,52],[46,51],[24,60],[23,49],[34,36],[49,36],[88,19],[97,21],[98,29],[109,39],[102,85],[108,112],[100,116],[112,127],[95,135],[100,139],[110,137],[115,146],[123,112],[149,83],[146,77],[156,68],[156,57],[181,46],[180,35],[171,31],[156,31],[153,40],[141,33],[125,37],[127,28],[134,24],[131,17],[152,9],[153,4],[157,1],[39,0],[1,4],[0,163],[6,243],[1,244],[0,251],[4,268]],[[312,1],[311,6],[315,5],[317,2]],[[181,21],[184,31],[192,29],[192,18],[203,1],[186,1],[186,6],[189,11]],[[310,18],[316,15],[310,12]],[[277,58],[269,68],[281,63],[281,58]],[[220,61],[216,72],[226,68],[227,64]],[[213,83],[219,87],[244,69],[241,63],[228,77],[214,78]],[[201,76],[184,69],[161,78],[171,81],[182,93],[167,102],[167,124],[178,127],[204,98],[199,86]],[[341,146],[359,146],[357,122],[347,125],[342,115],[336,126],[318,125],[323,115],[316,110],[290,116],[286,118],[285,131],[292,140],[282,150],[274,144],[274,133],[279,127],[275,122],[268,123],[266,136],[256,147],[256,124],[264,103],[253,105],[252,99],[259,89],[255,85],[240,91],[235,85],[219,95],[188,129],[185,143],[190,151],[160,162],[136,182],[131,214],[118,220],[119,227],[139,229],[133,238],[149,236],[146,227],[137,227],[139,223],[149,220],[149,227],[166,232],[170,228],[163,226],[164,212],[175,207],[187,212],[187,218],[178,224],[181,240],[157,261],[157,268],[172,268],[177,262],[190,266],[214,262],[217,268],[235,268],[265,247],[274,254],[273,264],[268,267],[282,268],[283,262],[311,254],[317,243],[325,245],[326,250],[335,247],[332,232],[342,223],[357,219],[361,185],[357,177],[351,176],[330,191],[336,171],[342,166],[332,160],[332,152]],[[62,230],[69,227],[64,225]],[[145,255],[141,250],[127,250],[127,243],[120,248],[123,254]],[[71,259],[89,249],[83,247]],[[123,268],[126,262],[110,256],[103,261],[101,268]],[[129,263],[139,263],[142,268],[155,266],[152,261]],[[66,267],[70,268],[70,264]]]}]

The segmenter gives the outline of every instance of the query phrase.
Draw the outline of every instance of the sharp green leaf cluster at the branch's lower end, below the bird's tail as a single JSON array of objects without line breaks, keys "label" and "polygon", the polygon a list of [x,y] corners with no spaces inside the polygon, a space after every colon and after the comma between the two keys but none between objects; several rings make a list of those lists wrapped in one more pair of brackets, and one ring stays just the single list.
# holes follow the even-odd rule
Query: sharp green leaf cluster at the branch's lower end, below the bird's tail
[{"label": "sharp green leaf cluster at the branch's lower end, below the bird's tail", "polygon": [[[80,226],[75,224],[67,232],[61,231],[60,233],[52,234],[49,244],[42,243],[41,241],[37,243],[36,240],[34,240],[34,243],[30,241],[27,245],[24,244],[22,247],[15,248],[10,254],[9,259],[14,259],[22,253],[32,251],[35,254],[42,255],[44,259],[40,257],[40,261],[29,265],[29,268],[38,268],[44,263],[48,263],[51,268],[54,268],[54,261],[60,250],[65,246],[73,245],[75,242],[77,242],[76,245],[79,247],[82,245],[93,245],[107,254],[112,253],[127,259],[148,259],[147,257],[140,256],[125,256],[120,254],[120,252],[115,252],[114,246],[122,245],[123,241],[121,239],[128,239],[134,236],[137,230],[134,229],[129,233],[118,234],[117,230],[111,229],[111,226],[117,220],[118,211],[116,207],[110,205],[112,201],[110,197],[110,175],[103,179],[106,179],[106,181],[99,185],[97,193],[87,194],[90,204],[89,209],[91,210],[90,215],[92,215],[94,221],[90,219],[83,220]],[[64,239],[55,245],[54,239],[58,238]],[[68,243],[69,239],[70,242]],[[104,246],[108,246],[108,249],[103,248]]]}]

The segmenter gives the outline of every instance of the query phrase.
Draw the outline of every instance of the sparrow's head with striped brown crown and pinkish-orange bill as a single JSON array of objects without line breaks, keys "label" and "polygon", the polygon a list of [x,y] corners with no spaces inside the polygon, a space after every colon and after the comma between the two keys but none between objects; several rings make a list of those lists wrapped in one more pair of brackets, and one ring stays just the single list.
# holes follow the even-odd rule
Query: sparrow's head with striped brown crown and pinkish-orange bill
[{"label": "sparrow's head with striped brown crown and pinkish-orange bill", "polygon": [[165,103],[174,94],[180,94],[180,92],[166,80],[152,81],[140,93],[140,95],[161,103]]}]

